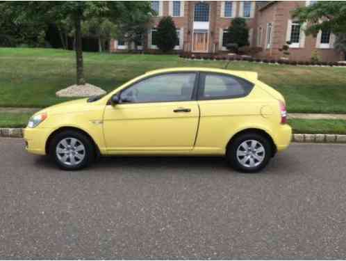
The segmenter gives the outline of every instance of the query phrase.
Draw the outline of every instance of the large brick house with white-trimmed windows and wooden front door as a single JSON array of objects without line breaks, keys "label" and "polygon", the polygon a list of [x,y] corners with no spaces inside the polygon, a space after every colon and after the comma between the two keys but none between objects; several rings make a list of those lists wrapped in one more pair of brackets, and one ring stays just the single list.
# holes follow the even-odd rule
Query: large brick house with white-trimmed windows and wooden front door
[{"label": "large brick house with white-trimmed windows and wooden front door", "polygon": [[[335,36],[320,32],[317,37],[304,34],[304,24],[295,22],[290,11],[313,1],[151,1],[158,14],[154,26],[145,37],[147,52],[156,52],[155,26],[163,16],[170,15],[176,25],[179,42],[176,52],[220,53],[226,52],[227,28],[234,17],[244,17],[249,27],[249,43],[262,47],[262,58],[281,58],[279,49],[287,41],[290,59],[310,61],[317,50],[322,61],[340,61],[343,55],[333,49]],[[110,52],[127,52],[134,44],[111,40]]]}]

